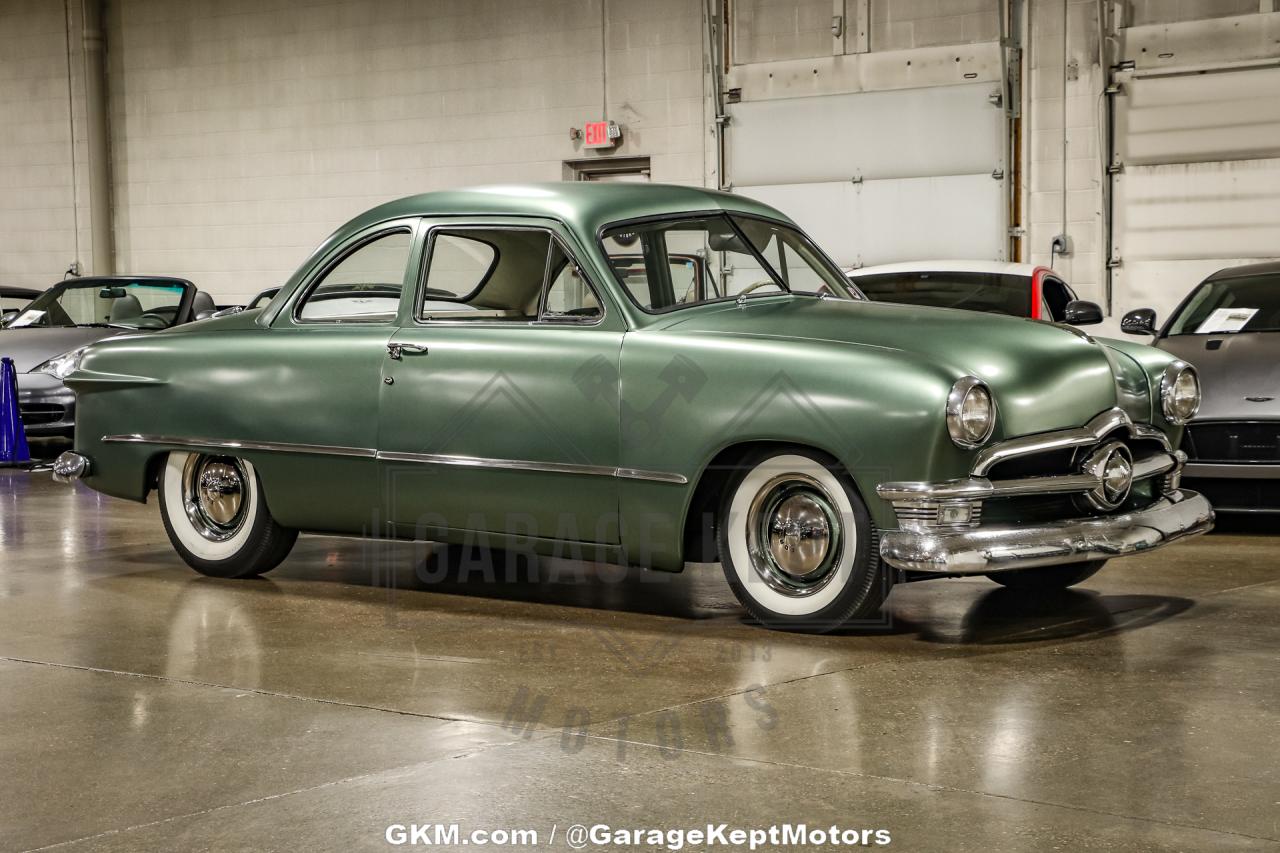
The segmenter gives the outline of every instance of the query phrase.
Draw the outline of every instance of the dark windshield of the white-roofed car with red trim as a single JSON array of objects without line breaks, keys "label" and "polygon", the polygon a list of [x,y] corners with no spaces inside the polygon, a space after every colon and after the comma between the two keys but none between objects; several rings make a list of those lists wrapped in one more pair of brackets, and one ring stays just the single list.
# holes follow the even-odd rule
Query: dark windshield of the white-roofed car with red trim
[{"label": "dark windshield of the white-roofed car with red trim", "polygon": [[1027,278],[998,273],[881,273],[854,278],[873,302],[954,307],[989,314],[1032,315]]}]

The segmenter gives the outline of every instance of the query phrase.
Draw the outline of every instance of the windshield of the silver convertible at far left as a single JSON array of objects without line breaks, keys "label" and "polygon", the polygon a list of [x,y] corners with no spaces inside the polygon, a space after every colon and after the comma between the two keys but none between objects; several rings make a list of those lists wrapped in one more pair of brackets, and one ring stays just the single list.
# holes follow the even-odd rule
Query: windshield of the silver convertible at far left
[{"label": "windshield of the silver convertible at far left", "polygon": [[186,286],[178,280],[64,282],[15,316],[10,329],[111,325],[166,329],[178,319]]}]

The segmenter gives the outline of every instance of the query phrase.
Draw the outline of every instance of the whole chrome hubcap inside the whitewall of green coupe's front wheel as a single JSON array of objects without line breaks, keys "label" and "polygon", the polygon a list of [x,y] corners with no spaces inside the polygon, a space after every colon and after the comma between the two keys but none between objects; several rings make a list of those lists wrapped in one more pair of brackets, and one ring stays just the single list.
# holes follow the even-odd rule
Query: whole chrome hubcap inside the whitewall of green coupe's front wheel
[{"label": "whole chrome hubcap inside the whitewall of green coupe's front wheel", "polygon": [[785,474],[765,483],[748,510],[746,535],[755,574],[781,593],[812,596],[835,578],[840,514],[809,476]]}]

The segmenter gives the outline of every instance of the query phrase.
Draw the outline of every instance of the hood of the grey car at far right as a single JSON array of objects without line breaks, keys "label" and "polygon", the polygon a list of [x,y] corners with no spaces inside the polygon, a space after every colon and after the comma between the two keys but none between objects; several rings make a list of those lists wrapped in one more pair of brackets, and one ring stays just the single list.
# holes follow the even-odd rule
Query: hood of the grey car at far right
[{"label": "hood of the grey car at far right", "polygon": [[[1210,350],[1213,341],[1221,345]],[[1197,420],[1280,418],[1280,333],[1180,334],[1157,346],[1199,373]]]}]

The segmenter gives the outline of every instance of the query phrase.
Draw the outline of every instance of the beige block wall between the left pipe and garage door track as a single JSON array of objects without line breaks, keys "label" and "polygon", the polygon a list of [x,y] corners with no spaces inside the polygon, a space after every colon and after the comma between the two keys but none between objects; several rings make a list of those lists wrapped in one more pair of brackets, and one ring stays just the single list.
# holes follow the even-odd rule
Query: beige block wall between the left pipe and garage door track
[{"label": "beige block wall between the left pipe and garage door track", "polygon": [[653,179],[701,183],[700,8],[639,5],[111,4],[118,266],[243,300],[378,202],[561,179],[605,111]]}]

